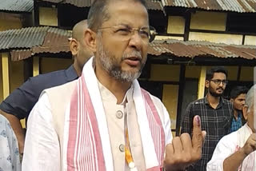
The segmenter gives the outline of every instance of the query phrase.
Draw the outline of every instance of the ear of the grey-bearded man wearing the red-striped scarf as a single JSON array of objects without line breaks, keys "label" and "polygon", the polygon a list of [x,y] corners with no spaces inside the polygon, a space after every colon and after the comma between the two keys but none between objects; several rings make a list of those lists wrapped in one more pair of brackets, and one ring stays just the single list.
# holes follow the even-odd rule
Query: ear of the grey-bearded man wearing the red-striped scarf
[{"label": "ear of the grey-bearded man wearing the red-striped scarf", "polygon": [[97,49],[97,34],[93,30],[86,29],[84,38],[86,46],[95,53]]}]

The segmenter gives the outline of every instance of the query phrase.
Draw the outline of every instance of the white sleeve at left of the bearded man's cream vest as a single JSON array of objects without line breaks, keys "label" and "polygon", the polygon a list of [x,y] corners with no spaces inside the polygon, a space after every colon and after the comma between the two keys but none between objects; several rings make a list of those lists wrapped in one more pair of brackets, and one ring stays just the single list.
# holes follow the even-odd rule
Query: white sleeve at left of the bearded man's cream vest
[{"label": "white sleeve at left of the bearded man's cream vest", "polygon": [[50,101],[43,93],[27,122],[22,170],[60,170],[58,135],[54,130],[50,109]]}]

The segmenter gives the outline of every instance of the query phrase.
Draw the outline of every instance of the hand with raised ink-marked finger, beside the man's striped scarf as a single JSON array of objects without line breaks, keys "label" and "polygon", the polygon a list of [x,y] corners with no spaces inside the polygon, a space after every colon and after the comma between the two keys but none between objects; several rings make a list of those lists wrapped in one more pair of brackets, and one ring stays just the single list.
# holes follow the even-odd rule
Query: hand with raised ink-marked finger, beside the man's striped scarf
[{"label": "hand with raised ink-marked finger, beside the man's striped scarf", "polygon": [[164,167],[167,171],[184,170],[187,166],[201,159],[202,143],[206,131],[201,129],[201,119],[197,115],[193,121],[193,137],[189,133],[182,133],[174,137],[171,144],[166,145]]}]

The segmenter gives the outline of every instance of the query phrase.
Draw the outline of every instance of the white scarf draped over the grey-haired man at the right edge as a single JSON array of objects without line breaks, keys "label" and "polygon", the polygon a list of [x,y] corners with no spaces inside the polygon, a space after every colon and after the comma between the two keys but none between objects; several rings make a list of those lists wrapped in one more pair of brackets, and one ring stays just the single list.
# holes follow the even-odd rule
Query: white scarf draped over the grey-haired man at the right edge
[{"label": "white scarf draped over the grey-haired man at the right edge", "polygon": [[[248,137],[252,134],[252,130],[246,124],[241,129],[238,129],[238,145],[235,151],[241,149],[246,144]],[[243,161],[242,165],[239,166],[238,171],[253,171],[255,170],[255,152],[250,153]]]}]

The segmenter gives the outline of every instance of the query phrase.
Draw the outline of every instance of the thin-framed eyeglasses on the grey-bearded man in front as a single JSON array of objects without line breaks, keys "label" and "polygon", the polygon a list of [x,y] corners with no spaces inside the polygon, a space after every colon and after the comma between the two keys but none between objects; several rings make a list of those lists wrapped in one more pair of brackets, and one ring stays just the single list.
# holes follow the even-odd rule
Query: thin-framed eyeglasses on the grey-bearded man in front
[{"label": "thin-framed eyeglasses on the grey-bearded man in front", "polygon": [[122,41],[130,40],[135,31],[138,31],[138,35],[142,38],[142,42],[152,42],[154,40],[156,30],[153,26],[142,26],[141,28],[131,28],[126,25],[108,26],[98,28],[98,30],[113,29],[114,35],[116,35]]}]

